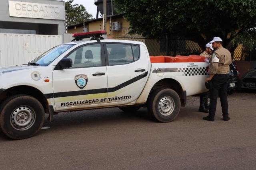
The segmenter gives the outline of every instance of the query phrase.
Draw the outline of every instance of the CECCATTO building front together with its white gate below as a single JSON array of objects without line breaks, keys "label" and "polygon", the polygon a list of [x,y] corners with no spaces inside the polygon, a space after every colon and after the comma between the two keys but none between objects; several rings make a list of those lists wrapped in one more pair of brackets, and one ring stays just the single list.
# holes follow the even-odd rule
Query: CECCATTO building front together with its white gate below
[{"label": "CECCATTO building front together with its white gate below", "polygon": [[64,1],[0,1],[0,66],[26,64],[63,43]]}]

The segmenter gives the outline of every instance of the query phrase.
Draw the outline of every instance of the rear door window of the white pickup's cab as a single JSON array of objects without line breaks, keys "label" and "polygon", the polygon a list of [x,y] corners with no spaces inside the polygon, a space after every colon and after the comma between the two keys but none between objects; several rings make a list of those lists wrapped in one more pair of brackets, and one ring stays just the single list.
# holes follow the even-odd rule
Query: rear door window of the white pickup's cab
[{"label": "rear door window of the white pickup's cab", "polygon": [[139,58],[139,46],[129,44],[106,44],[108,65],[132,63]]}]

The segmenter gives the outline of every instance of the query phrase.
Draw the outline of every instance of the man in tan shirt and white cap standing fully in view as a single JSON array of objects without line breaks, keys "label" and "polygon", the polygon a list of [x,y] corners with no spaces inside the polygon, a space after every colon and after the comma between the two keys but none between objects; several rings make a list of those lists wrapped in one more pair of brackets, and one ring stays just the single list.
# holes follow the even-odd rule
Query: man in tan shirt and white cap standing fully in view
[{"label": "man in tan shirt and white cap standing fully in view", "polygon": [[222,107],[222,116],[224,121],[228,121],[228,73],[230,71],[229,65],[231,64],[230,52],[222,47],[222,39],[214,37],[212,41],[212,48],[215,50],[210,57],[209,74],[210,77],[206,78],[206,82],[212,82],[212,89],[210,89],[210,109],[209,115],[204,117],[204,120],[214,121],[216,112],[217,99],[220,96],[220,103]]}]

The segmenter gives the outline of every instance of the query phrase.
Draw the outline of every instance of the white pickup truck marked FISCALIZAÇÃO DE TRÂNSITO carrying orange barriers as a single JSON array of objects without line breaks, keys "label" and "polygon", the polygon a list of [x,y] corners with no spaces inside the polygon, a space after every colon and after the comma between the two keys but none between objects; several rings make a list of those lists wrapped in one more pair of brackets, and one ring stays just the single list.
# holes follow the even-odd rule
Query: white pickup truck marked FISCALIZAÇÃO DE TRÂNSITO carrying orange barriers
[{"label": "white pickup truck marked FISCALIZA\u00c7\u00c3O DE TR\u00c2NSITO carrying orange barriers", "polygon": [[187,96],[207,91],[207,63],[186,58],[150,58],[137,41],[58,45],[28,64],[0,68],[0,127],[24,139],[41,129],[45,113],[52,120],[58,112],[104,107],[147,107],[157,121],[170,122]]}]

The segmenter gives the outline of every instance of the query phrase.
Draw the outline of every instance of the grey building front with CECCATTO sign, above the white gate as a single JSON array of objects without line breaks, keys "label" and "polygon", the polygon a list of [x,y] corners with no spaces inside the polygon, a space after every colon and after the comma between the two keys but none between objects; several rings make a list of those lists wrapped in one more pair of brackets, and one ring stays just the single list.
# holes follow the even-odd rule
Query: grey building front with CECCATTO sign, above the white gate
[{"label": "grey building front with CECCATTO sign, above the white gate", "polygon": [[0,33],[63,35],[65,4],[58,0],[1,0]]}]

